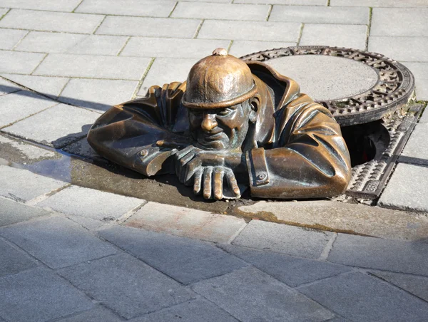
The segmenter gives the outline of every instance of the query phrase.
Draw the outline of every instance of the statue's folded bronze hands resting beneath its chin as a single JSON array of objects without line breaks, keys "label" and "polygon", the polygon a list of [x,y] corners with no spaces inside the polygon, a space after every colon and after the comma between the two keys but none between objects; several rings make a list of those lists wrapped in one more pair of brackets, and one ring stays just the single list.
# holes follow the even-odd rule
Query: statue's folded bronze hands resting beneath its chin
[{"label": "statue's folded bronze hands resting beneath its chin", "polygon": [[228,186],[235,197],[240,197],[240,189],[235,174],[225,166],[225,155],[220,152],[200,150],[189,146],[175,154],[175,173],[180,182],[193,184],[193,192],[203,192],[205,199],[223,198],[223,180],[226,177]]}]

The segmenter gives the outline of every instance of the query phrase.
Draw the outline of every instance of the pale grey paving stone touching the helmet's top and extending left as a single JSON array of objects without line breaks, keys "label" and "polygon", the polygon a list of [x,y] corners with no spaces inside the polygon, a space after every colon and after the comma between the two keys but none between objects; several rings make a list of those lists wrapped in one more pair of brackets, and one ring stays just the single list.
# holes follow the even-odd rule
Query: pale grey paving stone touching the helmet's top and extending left
[{"label": "pale grey paving stone touching the helmet's top and extending left", "polygon": [[132,37],[121,56],[203,58],[215,48],[228,48],[230,41],[211,39]]}]

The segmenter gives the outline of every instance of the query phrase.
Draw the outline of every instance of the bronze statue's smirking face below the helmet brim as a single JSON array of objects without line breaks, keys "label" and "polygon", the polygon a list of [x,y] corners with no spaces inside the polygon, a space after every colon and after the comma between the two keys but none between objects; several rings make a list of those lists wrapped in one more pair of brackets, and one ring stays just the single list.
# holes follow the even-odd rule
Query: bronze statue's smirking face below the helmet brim
[{"label": "bronze statue's smirking face below the helmet brim", "polygon": [[204,150],[233,150],[245,140],[251,111],[248,100],[228,108],[188,108],[190,131]]}]

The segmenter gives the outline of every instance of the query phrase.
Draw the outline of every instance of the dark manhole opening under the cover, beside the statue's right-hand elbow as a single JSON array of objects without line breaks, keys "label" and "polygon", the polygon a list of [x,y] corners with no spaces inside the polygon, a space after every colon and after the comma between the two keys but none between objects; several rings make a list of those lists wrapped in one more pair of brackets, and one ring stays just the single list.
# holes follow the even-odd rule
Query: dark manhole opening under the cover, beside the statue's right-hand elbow
[{"label": "dark manhole opening under the cover, beside the statue's right-hand elbow", "polygon": [[390,141],[389,132],[380,120],[344,126],[342,135],[350,151],[352,167],[374,160],[387,149]]}]

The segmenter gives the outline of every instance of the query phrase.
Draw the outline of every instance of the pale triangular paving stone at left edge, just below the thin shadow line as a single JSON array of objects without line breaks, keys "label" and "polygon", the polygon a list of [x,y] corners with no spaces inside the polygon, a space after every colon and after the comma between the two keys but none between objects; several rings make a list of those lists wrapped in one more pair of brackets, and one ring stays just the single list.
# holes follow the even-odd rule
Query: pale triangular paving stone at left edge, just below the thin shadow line
[{"label": "pale triangular paving stone at left edge, just below the thin shadow line", "polygon": [[[6,86],[9,88],[9,86]],[[58,104],[54,100],[30,92],[29,90],[20,90],[15,93],[0,96],[0,128],[11,123],[27,118],[30,115],[46,110]]]}]

